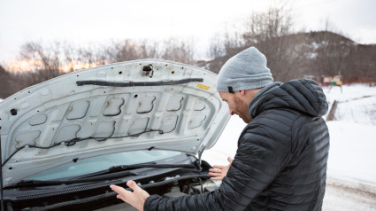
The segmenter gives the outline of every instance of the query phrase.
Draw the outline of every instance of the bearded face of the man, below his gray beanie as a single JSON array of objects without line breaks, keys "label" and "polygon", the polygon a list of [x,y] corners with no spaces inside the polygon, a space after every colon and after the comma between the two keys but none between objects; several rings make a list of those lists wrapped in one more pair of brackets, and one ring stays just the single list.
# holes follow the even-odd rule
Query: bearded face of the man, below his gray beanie
[{"label": "bearded face of the man, below his gray beanie", "polygon": [[249,102],[241,91],[235,91],[234,93],[219,91],[219,96],[228,104],[230,109],[230,115],[237,114],[245,123],[250,122],[248,106]]}]

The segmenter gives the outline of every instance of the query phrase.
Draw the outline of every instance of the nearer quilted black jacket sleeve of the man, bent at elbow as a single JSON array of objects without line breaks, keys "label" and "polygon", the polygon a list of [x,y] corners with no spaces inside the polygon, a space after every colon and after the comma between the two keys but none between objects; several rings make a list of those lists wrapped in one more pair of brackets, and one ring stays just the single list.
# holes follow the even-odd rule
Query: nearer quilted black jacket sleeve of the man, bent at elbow
[{"label": "nearer quilted black jacket sleeve of the man, bent at elbow", "polygon": [[176,199],[152,195],[145,201],[144,210],[246,209],[291,159],[290,129],[281,127],[277,127],[280,131],[271,132],[271,127],[262,121],[253,121],[243,130],[238,151],[219,190]]}]

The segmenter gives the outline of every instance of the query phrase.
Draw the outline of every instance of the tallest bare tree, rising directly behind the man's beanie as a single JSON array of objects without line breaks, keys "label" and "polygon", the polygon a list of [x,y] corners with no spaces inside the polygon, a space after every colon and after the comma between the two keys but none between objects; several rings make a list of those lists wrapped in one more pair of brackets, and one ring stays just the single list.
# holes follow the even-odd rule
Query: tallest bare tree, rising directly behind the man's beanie
[{"label": "tallest bare tree, rising directly behind the man's beanie", "polygon": [[256,46],[268,59],[268,67],[277,81],[288,81],[296,75],[302,52],[295,49],[290,11],[283,6],[253,14],[243,35],[247,46]]}]

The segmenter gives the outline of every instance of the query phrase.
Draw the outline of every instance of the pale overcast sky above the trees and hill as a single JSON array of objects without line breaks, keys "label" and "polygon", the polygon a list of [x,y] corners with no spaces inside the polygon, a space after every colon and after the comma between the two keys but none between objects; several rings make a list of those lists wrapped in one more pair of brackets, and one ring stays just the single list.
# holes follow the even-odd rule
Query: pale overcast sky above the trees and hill
[{"label": "pale overcast sky above the trees and hill", "polygon": [[[0,0],[0,62],[30,41],[108,43],[121,39],[192,37],[203,51],[215,34],[231,31],[275,0]],[[286,2],[286,1],[285,1]],[[334,31],[376,43],[376,0],[289,0],[295,29]]]}]

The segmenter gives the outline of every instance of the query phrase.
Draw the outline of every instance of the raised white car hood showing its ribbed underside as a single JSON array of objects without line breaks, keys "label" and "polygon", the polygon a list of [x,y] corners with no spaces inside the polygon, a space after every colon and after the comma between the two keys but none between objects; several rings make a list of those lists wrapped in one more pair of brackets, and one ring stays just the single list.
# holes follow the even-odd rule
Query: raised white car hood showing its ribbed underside
[{"label": "raised white car hood showing its ribbed underside", "polygon": [[0,103],[4,186],[77,159],[142,149],[196,155],[229,113],[217,75],[142,59],[64,74]]}]

